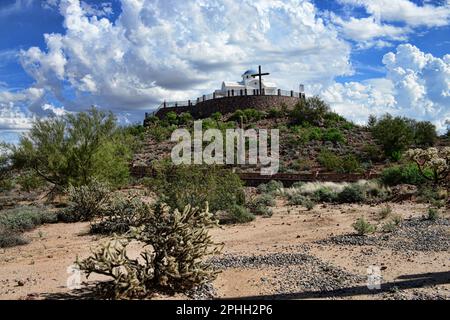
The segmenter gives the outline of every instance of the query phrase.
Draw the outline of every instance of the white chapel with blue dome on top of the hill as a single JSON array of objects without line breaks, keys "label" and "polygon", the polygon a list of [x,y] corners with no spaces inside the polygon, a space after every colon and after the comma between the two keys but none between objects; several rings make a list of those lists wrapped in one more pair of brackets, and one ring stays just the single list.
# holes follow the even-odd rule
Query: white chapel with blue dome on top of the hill
[{"label": "white chapel with blue dome on top of the hill", "polygon": [[[249,95],[259,94],[260,85],[259,85],[259,77],[256,75],[257,71],[247,70],[242,75],[242,81],[233,82],[233,81],[224,81],[222,83],[222,89],[216,90],[216,95],[227,96],[229,92],[234,92],[234,95],[240,95],[241,90],[245,91],[247,89],[247,93]],[[276,95],[277,94],[277,85],[271,82],[267,82],[264,79],[261,80],[261,87],[264,90],[264,93],[267,95]]]}]

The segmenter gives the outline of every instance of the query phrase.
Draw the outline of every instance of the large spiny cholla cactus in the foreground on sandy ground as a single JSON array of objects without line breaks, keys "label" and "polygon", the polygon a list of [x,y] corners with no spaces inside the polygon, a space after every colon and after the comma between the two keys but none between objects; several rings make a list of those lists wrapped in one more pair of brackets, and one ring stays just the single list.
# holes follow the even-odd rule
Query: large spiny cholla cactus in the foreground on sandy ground
[{"label": "large spiny cholla cactus in the foreground on sandy ground", "polygon": [[[88,276],[97,273],[111,278],[106,285],[99,284],[110,298],[146,297],[155,291],[186,292],[217,275],[204,261],[220,251],[208,234],[216,225],[208,208],[187,206],[180,212],[157,204],[145,224],[131,228],[124,238],[103,245],[77,264]],[[140,259],[127,256],[131,240],[144,243]]]}]

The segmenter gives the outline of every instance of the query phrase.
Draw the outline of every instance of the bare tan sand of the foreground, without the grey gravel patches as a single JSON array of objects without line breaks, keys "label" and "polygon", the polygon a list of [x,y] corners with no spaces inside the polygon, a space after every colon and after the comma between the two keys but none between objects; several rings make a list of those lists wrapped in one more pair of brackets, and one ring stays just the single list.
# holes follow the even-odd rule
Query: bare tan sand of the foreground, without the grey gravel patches
[{"label": "bare tan sand of the foreground, without the grey gravel patches", "polygon": [[[391,204],[393,212],[405,219],[423,215],[426,206],[415,203]],[[225,244],[223,254],[240,256],[271,253],[302,252],[351,274],[367,277],[371,265],[382,269],[382,283],[407,282],[407,298],[438,295],[450,298],[450,253],[447,251],[397,251],[379,246],[350,246],[317,244],[320,239],[352,233],[351,224],[365,216],[380,223],[379,207],[368,205],[320,205],[312,211],[301,207],[287,207],[279,202],[271,218],[212,230],[215,241]],[[444,213],[449,217],[449,213]],[[68,268],[76,257],[85,258],[99,242],[106,238],[88,234],[89,224],[54,224],[41,226],[27,234],[32,241],[15,248],[0,249],[0,299],[67,298]],[[450,236],[450,234],[449,234]],[[342,298],[385,299],[392,294],[386,290],[367,292],[365,283],[355,284],[339,293],[319,296],[307,291],[288,290],[283,295],[276,281],[287,267],[227,268],[214,282],[220,298]],[[297,274],[301,274],[298,266]],[[286,269],[287,270],[287,269]],[[305,270],[307,272],[307,270]],[[96,278],[90,279],[95,281]],[[282,288],[283,289],[283,288]],[[294,288],[295,289],[295,288]],[[283,290],[281,290],[283,291]],[[395,291],[395,290],[394,290]]]}]

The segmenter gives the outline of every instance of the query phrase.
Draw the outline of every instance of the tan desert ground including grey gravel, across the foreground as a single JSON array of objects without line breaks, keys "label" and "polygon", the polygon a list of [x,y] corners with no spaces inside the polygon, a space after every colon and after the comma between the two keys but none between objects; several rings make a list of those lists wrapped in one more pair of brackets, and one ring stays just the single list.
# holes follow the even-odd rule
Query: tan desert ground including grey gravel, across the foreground
[{"label": "tan desert ground including grey gravel, across the foreground", "polygon": [[[420,221],[426,212],[425,205],[411,202],[391,206],[405,222]],[[376,241],[355,236],[333,240],[352,234],[351,225],[361,216],[381,225],[379,211],[379,206],[368,205],[319,205],[306,211],[279,202],[270,218],[214,229],[213,238],[223,242],[224,249],[212,262],[222,272],[207,294],[250,299],[449,299],[449,212],[442,211],[445,219],[437,225],[422,226],[423,236],[414,233],[420,239],[401,238],[411,233],[408,229],[387,240],[380,234],[367,238]],[[67,289],[68,268],[107,238],[90,235],[87,223],[44,225],[27,236],[27,245],[0,249],[0,299],[81,297]],[[367,288],[370,266],[380,268],[379,290]],[[86,283],[97,280],[101,279],[92,277]]]}]

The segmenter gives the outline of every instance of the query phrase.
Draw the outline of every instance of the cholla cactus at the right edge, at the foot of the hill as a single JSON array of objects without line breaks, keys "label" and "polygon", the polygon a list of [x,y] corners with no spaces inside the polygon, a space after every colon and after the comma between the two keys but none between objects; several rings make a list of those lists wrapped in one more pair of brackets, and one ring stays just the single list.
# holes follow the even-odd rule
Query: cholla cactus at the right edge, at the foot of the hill
[{"label": "cholla cactus at the right edge, at the foot of the hill", "polygon": [[[417,164],[421,174],[435,184],[444,182],[450,174],[450,147],[411,149],[406,155]],[[426,174],[427,170],[431,171],[431,176]]]}]

